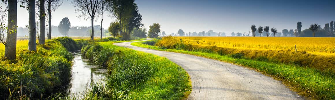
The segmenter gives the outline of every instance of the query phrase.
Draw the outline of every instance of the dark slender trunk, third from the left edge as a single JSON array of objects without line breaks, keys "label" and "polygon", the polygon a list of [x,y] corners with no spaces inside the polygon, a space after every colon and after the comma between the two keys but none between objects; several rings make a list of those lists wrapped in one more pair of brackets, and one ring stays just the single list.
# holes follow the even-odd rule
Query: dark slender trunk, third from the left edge
[{"label": "dark slender trunk, third from the left edge", "polygon": [[45,43],[45,0],[40,0],[40,44]]}]

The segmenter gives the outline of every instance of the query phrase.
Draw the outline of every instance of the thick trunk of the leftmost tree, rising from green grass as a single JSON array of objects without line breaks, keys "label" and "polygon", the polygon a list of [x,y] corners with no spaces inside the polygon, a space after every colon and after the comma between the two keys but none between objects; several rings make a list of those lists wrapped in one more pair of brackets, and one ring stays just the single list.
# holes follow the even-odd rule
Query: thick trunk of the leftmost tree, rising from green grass
[{"label": "thick trunk of the leftmost tree, rising from green grass", "polygon": [[11,30],[16,30],[17,23],[17,1],[8,1],[8,29],[5,45],[5,57],[9,60],[16,59],[16,31],[11,32]]}]

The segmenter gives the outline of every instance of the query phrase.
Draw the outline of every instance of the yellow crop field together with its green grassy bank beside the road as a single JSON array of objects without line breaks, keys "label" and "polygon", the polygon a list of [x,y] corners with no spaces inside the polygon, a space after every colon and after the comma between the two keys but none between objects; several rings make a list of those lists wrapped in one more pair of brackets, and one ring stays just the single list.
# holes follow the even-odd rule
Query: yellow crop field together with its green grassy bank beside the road
[{"label": "yellow crop field together with its green grassy bank beside the road", "polygon": [[[259,41],[250,40],[253,38],[259,39]],[[251,42],[247,42],[248,39]],[[303,42],[299,43],[298,40],[294,42],[291,39],[301,39],[300,41],[305,42],[320,39],[318,43],[325,44],[317,46],[316,43],[304,44]],[[276,44],[270,42],[272,40],[278,43],[278,47],[274,47]],[[314,49],[306,49],[309,50],[307,52],[302,51],[300,47],[298,52],[295,52],[290,49],[292,48],[289,47],[290,42],[304,45],[305,48],[311,47],[310,45],[315,45],[315,47]],[[134,42],[132,45],[242,65],[282,81],[291,90],[309,97],[309,99],[334,99],[335,57],[328,55],[334,51],[330,53],[321,50],[315,52],[316,49],[322,47],[325,49],[334,48],[332,44],[328,44],[332,42],[334,42],[333,38],[167,36],[162,39]]]}]

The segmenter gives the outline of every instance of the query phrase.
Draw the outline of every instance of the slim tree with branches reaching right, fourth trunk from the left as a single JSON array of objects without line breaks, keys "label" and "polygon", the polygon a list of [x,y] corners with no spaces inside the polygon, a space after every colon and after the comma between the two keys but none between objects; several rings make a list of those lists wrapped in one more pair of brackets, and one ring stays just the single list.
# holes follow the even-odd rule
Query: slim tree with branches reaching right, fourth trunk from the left
[{"label": "slim tree with branches reaching right, fourth trunk from the left", "polygon": [[51,30],[52,30],[52,25],[51,25],[51,12],[55,11],[59,6],[63,4],[62,0],[46,0],[48,4],[48,22],[49,22],[49,32],[48,32],[48,39],[51,39]]}]

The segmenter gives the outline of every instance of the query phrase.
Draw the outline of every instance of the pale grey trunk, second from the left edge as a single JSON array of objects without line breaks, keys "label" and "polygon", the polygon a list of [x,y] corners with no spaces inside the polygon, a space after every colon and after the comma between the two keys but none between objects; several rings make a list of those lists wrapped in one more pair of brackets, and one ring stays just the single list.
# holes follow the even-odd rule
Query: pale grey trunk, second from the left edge
[{"label": "pale grey trunk, second from the left edge", "polygon": [[29,0],[29,42],[28,50],[36,51],[35,0]]}]

